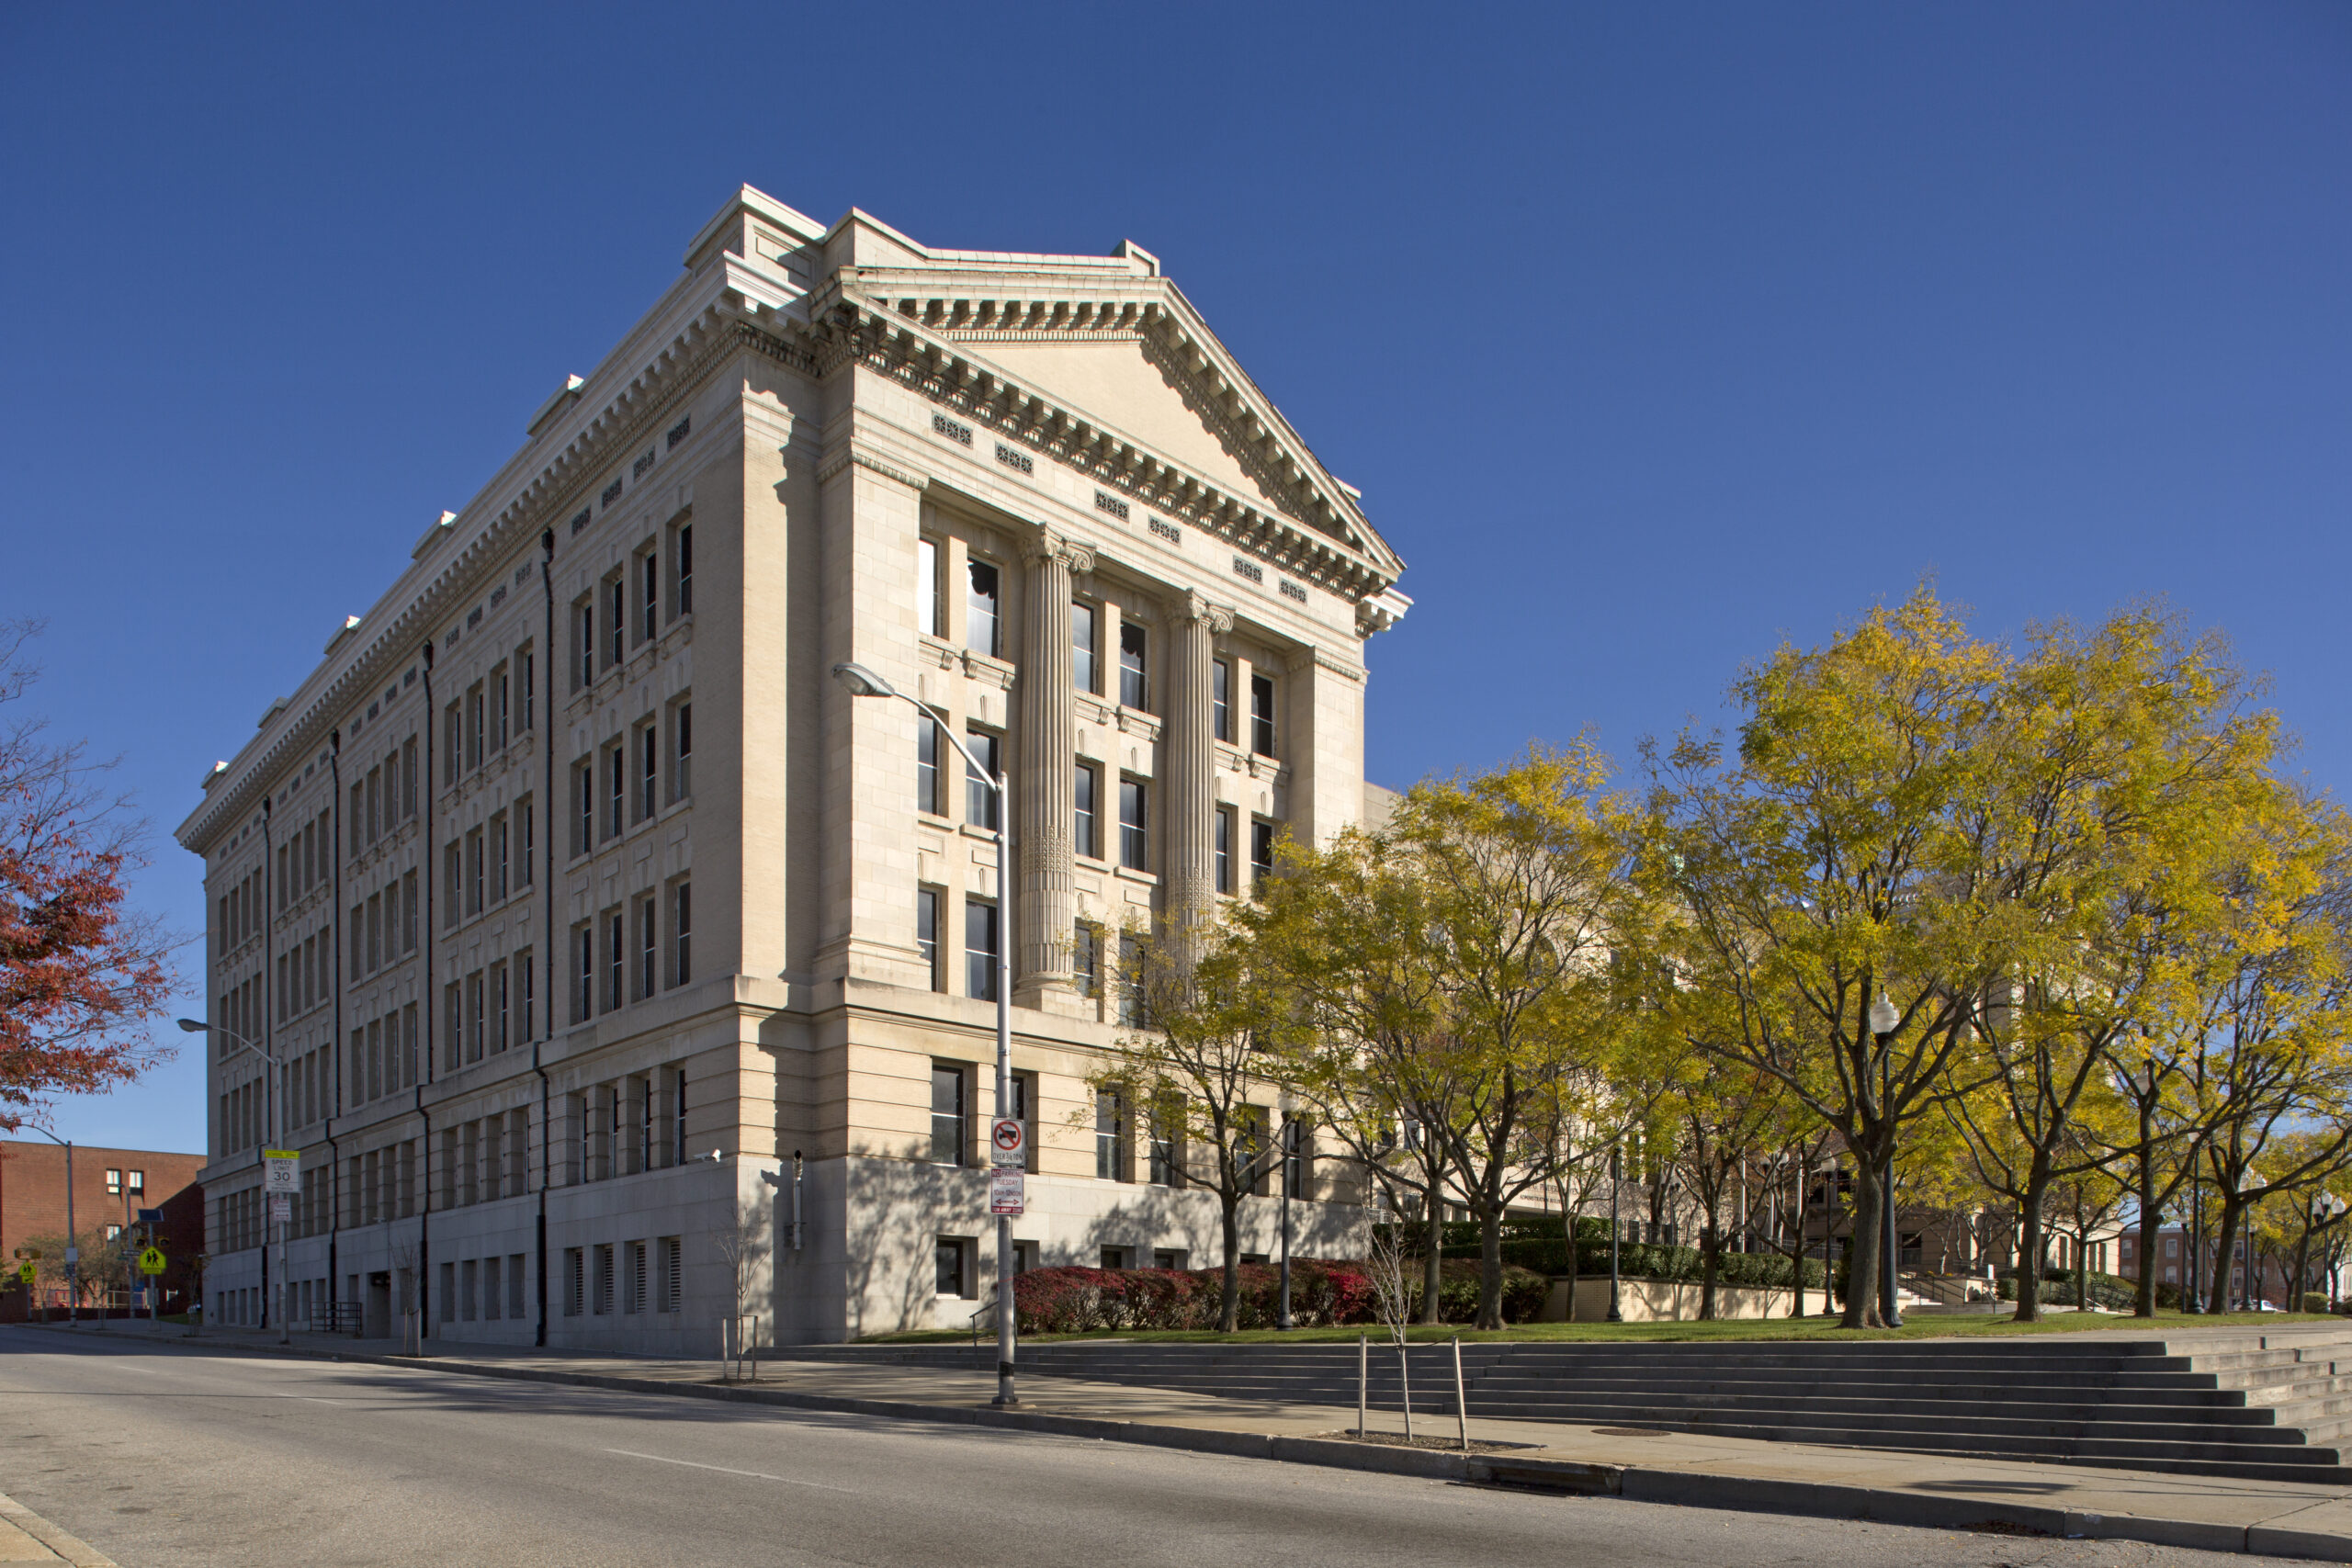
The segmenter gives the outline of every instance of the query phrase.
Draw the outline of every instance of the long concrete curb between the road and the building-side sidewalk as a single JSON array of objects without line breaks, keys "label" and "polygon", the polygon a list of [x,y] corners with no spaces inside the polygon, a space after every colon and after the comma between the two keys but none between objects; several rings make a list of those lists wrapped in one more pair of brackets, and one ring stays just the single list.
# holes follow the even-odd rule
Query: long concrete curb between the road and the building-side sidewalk
[{"label": "long concrete curb between the road and the building-side sidewalk", "polygon": [[[47,1324],[35,1324],[47,1328]],[[1188,1453],[1221,1453],[1247,1460],[1279,1460],[1359,1469],[1423,1481],[1463,1486],[1508,1486],[1562,1495],[1609,1495],[1630,1502],[1672,1507],[1740,1509],[1752,1514],[1799,1514],[1813,1519],[1867,1519],[1872,1523],[1917,1526],[1926,1530],[1971,1530],[2013,1526],[2065,1540],[2138,1540],[2157,1547],[2192,1547],[2199,1552],[2246,1552],[2256,1556],[2291,1556],[2324,1563],[2352,1563],[2352,1535],[2331,1530],[2291,1530],[2270,1523],[2232,1526],[2201,1519],[2157,1519],[2147,1514],[2082,1514],[2020,1505],[1997,1497],[1922,1495],[1877,1486],[1832,1486],[1828,1481],[1790,1481],[1762,1476],[1722,1476],[1696,1469],[1656,1469],[1646,1465],[1588,1465],[1581,1460],[1543,1460],[1519,1455],[1446,1453],[1442,1448],[1388,1448],[1343,1439],[1282,1436],[1230,1427],[1169,1427],[1157,1422],[1108,1420],[1098,1415],[1049,1415],[1044,1410],[997,1410],[990,1406],[934,1406],[903,1399],[849,1399],[842,1394],[802,1394],[760,1385],[675,1382],[659,1378],[614,1378],[532,1366],[482,1366],[442,1356],[383,1356],[367,1352],[327,1352],[299,1345],[230,1345],[223,1340],[155,1340],[158,1345],[238,1349],[308,1361],[343,1361],[362,1366],[433,1368],[510,1382],[553,1382],[616,1394],[677,1394],[684,1399],[720,1399],[764,1403],[830,1415],[875,1415],[882,1420],[924,1420],[960,1427],[995,1427],[1007,1432],[1042,1432],[1082,1436],[1105,1443],[1143,1443]],[[31,1528],[31,1526],[28,1526]],[[71,1537],[68,1537],[71,1540]],[[75,1542],[80,1544],[80,1542]],[[87,1547],[82,1547],[87,1552]],[[80,1563],[80,1559],[68,1559]],[[111,1568],[92,1556],[92,1568]]]}]

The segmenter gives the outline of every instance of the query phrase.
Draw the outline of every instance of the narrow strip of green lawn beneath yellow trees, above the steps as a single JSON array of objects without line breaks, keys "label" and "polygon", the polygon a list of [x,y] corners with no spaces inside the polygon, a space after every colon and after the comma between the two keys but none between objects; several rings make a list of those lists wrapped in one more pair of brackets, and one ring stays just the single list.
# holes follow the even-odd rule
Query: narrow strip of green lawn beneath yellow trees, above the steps
[{"label": "narrow strip of green lawn beneath yellow trees, above the steps", "polygon": [[[1475,1328],[1446,1326],[1414,1326],[1411,1338],[1418,1340],[1451,1340],[1461,1335],[1463,1340],[1936,1340],[1936,1338],[1980,1338],[1980,1335],[2009,1335],[2009,1333],[2131,1333],[2131,1335],[2161,1335],[2178,1328],[2279,1328],[2284,1324],[2343,1324],[2345,1319],[2328,1314],[2307,1312],[2230,1312],[2230,1314],[2187,1314],[2187,1312],[2159,1312],[2152,1319],[2136,1316],[2110,1316],[2103,1312],[2072,1312],[2072,1309],[2044,1309],[2039,1324],[2018,1324],[2006,1314],[1999,1316],[1915,1316],[1903,1328],[1839,1328],[1837,1319],[1731,1319],[1717,1324],[1519,1324],[1515,1328],[1501,1328],[1494,1333],[1479,1333]],[[1124,1340],[1129,1345],[1188,1345],[1188,1342],[1225,1342],[1225,1345],[1272,1345],[1272,1342],[1355,1342],[1367,1328],[1294,1328],[1291,1333],[1277,1333],[1272,1328],[1247,1328],[1242,1333],[1216,1333],[1209,1328],[1134,1328],[1134,1331],[1098,1331],[1098,1333],[1037,1333],[1023,1335],[1030,1345],[1049,1345],[1058,1340]],[[1374,1328],[1376,1340],[1385,1338],[1385,1328]],[[920,1333],[877,1333],[863,1340],[866,1345],[950,1345],[957,1340],[971,1340],[969,1331],[957,1328],[934,1328]]]}]

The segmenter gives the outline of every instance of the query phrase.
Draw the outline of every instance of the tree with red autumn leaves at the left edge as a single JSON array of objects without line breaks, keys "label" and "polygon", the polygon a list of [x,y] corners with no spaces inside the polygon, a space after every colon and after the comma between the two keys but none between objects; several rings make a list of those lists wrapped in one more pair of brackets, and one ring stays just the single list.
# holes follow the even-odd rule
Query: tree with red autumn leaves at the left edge
[{"label": "tree with red autumn leaves at the left edge", "polygon": [[[24,658],[38,632],[38,621],[0,621],[0,705],[40,675]],[[146,1025],[172,997],[172,940],[122,891],[146,865],[146,823],[103,788],[111,762],[45,729],[38,717],[0,724],[0,1131],[169,1056]]]}]

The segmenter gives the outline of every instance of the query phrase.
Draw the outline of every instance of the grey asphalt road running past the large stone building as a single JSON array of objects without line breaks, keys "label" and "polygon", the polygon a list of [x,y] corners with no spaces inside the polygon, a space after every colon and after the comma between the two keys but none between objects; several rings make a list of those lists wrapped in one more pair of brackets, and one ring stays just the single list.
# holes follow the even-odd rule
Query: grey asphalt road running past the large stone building
[{"label": "grey asphalt road running past the large stone building", "polygon": [[0,1490],[125,1568],[2253,1568],[0,1328]]}]

